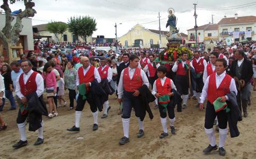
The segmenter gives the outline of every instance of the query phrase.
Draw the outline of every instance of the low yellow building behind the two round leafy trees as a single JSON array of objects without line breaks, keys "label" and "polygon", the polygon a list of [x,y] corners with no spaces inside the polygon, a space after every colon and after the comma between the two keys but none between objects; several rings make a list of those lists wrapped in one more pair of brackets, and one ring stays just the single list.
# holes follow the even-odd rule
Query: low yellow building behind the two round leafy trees
[{"label": "low yellow building behind the two round leafy trees", "polygon": [[[40,24],[40,25],[34,25],[33,30],[37,28],[38,33],[34,33],[34,39],[42,39],[47,38],[49,41],[55,41],[58,42],[58,39],[53,33],[50,33],[46,29],[47,24]],[[80,36],[75,36],[72,33],[70,33],[68,30],[66,30],[63,34],[63,38],[61,36],[58,36],[60,42],[75,42],[77,39],[81,42],[84,42],[84,39],[82,39]],[[89,36],[86,38],[86,42],[92,42],[92,36]]]}]

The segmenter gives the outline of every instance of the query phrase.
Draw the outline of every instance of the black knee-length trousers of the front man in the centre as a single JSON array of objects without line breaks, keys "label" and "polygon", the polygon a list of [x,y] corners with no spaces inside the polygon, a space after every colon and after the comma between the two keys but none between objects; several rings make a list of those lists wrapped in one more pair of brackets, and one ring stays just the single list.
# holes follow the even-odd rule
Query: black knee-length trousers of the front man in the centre
[{"label": "black knee-length trousers of the front man in the centre", "polygon": [[[122,98],[122,118],[128,119],[131,117],[131,108],[135,110],[135,116],[139,117],[140,111],[140,99],[133,96],[134,92],[123,91]],[[146,112],[145,112],[146,115]],[[144,116],[145,117],[145,116]]]}]

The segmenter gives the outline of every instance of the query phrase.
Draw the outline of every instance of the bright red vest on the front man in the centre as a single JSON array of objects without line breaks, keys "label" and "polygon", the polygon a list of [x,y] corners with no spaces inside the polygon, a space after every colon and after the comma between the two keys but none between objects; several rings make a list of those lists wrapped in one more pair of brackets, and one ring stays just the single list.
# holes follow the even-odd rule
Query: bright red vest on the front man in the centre
[{"label": "bright red vest on the front man in the centre", "polygon": [[130,79],[129,76],[129,68],[125,68],[123,70],[123,88],[125,91],[134,92],[134,90],[138,90],[142,87],[142,76],[140,74],[140,68],[136,68],[134,72],[134,76]]}]

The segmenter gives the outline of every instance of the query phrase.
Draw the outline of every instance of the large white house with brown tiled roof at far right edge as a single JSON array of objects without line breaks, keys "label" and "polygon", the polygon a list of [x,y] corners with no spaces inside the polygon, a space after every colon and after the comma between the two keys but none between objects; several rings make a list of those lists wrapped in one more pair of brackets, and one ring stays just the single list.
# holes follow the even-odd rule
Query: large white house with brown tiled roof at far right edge
[{"label": "large white house with brown tiled roof at far right edge", "polygon": [[[218,22],[219,40],[231,39],[235,41],[256,41],[256,16],[224,17]],[[235,39],[233,33],[239,32],[239,38]]]}]

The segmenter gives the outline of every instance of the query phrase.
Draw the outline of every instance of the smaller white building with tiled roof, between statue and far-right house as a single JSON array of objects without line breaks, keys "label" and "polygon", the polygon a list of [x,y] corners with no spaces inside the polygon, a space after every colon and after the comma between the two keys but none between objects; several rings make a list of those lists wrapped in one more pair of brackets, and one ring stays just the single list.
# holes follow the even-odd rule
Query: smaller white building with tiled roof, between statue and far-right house
[{"label": "smaller white building with tiled roof, between statue and far-right house", "polygon": [[[197,28],[198,42],[210,43],[211,40],[218,40],[218,25],[205,24]],[[188,43],[196,43],[196,31],[194,28],[188,30]]]}]

